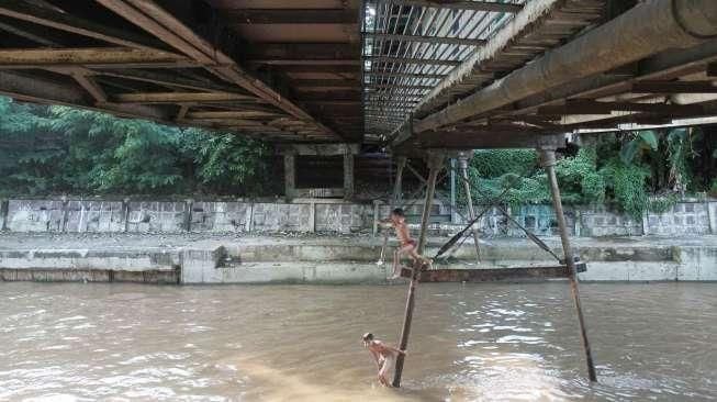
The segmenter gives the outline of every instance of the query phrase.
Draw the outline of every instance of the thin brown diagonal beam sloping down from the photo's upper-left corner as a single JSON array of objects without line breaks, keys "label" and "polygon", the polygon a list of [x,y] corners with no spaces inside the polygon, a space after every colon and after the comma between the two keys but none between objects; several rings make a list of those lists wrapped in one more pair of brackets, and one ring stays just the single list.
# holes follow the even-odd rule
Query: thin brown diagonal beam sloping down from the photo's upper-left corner
[{"label": "thin brown diagonal beam sloping down from the photo's upper-left corner", "polygon": [[98,24],[69,13],[61,13],[48,8],[37,7],[21,0],[3,0],[0,3],[0,15],[32,22],[43,26],[70,32],[77,35],[92,37],[121,46],[141,49],[163,48],[163,44],[152,37],[135,35],[124,30]]}]

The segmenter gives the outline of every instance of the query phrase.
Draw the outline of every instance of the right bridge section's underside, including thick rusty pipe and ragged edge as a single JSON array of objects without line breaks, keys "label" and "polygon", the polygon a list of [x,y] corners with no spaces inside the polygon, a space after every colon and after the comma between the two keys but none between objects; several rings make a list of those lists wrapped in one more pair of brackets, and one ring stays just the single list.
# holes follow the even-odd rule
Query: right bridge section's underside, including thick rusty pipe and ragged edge
[{"label": "right bridge section's underside, including thick rusty pipe and ragged edge", "polygon": [[[712,15],[716,5],[704,2],[701,8]],[[717,41],[714,35],[693,35],[691,29],[661,37],[659,30],[649,31],[654,21],[635,18],[660,7],[668,10],[671,3],[528,0],[515,16],[477,44],[474,52],[457,59],[436,83],[426,87],[408,108],[394,112],[391,129],[381,134],[395,152],[410,153],[422,148],[536,146],[544,134],[714,122]],[[444,4],[444,10],[450,9]],[[687,15],[690,11],[680,12]],[[679,25],[679,20],[685,19],[677,15],[675,20]],[[603,35],[598,43],[593,33],[606,33],[598,29],[607,26],[648,32],[642,43],[656,51],[646,51],[637,42],[631,48],[620,47],[623,38],[617,33]],[[712,20],[701,26],[710,32],[716,29]],[[693,37],[677,42],[683,36]],[[661,46],[660,41],[675,46]],[[570,47],[576,43],[595,47]],[[548,68],[558,66],[556,60],[569,48],[576,57],[560,68],[571,78],[556,79]],[[601,70],[583,62],[595,59],[598,51],[603,59],[625,63]],[[630,54],[636,56],[630,58]],[[583,63],[584,71],[568,70],[568,63]],[[542,81],[558,83],[544,86]],[[367,111],[367,124],[369,120]]]}]

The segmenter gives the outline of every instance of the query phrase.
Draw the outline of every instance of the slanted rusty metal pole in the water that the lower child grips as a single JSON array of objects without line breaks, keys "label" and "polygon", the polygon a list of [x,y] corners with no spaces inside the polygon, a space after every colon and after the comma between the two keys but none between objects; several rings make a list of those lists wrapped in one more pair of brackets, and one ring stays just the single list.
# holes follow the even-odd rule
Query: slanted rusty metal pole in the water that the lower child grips
[{"label": "slanted rusty metal pole in the water that the lower child grips", "polygon": [[[423,204],[423,214],[421,215],[421,235],[418,236],[418,246],[416,252],[421,255],[426,245],[427,232],[428,232],[428,221],[430,219],[430,210],[433,206],[434,192],[436,190],[436,178],[438,177],[438,171],[441,169],[444,164],[442,154],[429,154],[428,155],[428,168],[430,169],[428,174],[428,185],[426,187],[426,200]],[[408,295],[406,298],[406,311],[403,317],[403,328],[401,330],[401,342],[399,343],[399,349],[405,350],[408,346],[408,334],[411,333],[411,321],[413,320],[413,308],[415,305],[416,297],[416,284],[418,283],[418,277],[421,276],[421,269],[423,264],[416,263],[413,266],[413,273],[411,276],[411,283],[408,284]],[[396,367],[393,375],[393,387],[401,387],[401,373],[403,372],[403,361],[405,360],[404,355],[399,355],[396,357]]]}]

